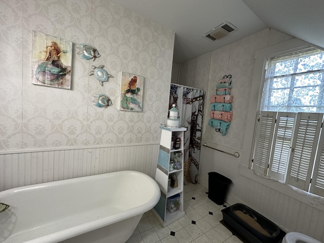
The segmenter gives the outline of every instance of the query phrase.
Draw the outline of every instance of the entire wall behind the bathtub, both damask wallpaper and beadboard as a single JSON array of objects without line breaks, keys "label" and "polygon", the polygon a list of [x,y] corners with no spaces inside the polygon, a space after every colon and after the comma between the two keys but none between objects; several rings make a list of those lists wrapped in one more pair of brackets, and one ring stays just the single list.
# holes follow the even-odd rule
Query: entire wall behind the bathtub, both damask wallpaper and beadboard
[{"label": "entire wall behind the bathtub, both damask wallpaper and beadboard", "polygon": [[[174,32],[109,1],[2,0],[0,190],[135,169],[154,176],[166,122]],[[31,84],[32,30],[73,43],[72,88]],[[78,44],[101,57],[80,59]],[[114,77],[100,86],[91,65]],[[120,111],[120,72],[143,75],[143,111]],[[107,94],[113,105],[93,105]],[[155,151],[156,150],[156,151]]]}]

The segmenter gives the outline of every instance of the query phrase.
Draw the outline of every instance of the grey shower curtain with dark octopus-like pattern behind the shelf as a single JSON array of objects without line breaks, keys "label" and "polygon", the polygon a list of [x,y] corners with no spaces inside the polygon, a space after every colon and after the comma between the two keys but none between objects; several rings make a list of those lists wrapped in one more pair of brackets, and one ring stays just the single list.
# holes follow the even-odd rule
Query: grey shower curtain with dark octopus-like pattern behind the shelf
[{"label": "grey shower curtain with dark octopus-like pattern behind the shelf", "polygon": [[175,104],[180,125],[188,127],[183,141],[185,183],[198,183],[204,98],[204,90],[171,84],[169,110]]}]

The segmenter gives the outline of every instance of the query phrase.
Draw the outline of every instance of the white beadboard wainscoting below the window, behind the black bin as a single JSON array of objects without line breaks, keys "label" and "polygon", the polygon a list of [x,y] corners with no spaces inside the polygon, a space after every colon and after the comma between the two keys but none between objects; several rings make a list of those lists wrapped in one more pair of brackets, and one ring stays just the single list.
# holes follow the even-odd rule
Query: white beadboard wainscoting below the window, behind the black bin
[{"label": "white beadboard wainscoting below the window, behind the black bin", "polygon": [[[203,140],[213,148],[233,153],[244,151]],[[286,232],[297,231],[324,242],[324,200],[278,181],[263,178],[240,166],[241,157],[201,146],[199,183],[208,188],[208,172],[218,172],[232,180],[228,204],[245,204]]]}]

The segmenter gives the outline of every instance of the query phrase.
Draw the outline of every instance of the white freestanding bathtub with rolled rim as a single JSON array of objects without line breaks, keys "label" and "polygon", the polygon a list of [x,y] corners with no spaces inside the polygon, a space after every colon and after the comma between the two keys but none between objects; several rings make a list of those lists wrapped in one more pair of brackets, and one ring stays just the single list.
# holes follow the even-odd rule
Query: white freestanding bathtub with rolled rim
[{"label": "white freestanding bathtub with rolled rim", "polygon": [[0,192],[0,242],[124,243],[160,190],[146,174],[120,171]]}]

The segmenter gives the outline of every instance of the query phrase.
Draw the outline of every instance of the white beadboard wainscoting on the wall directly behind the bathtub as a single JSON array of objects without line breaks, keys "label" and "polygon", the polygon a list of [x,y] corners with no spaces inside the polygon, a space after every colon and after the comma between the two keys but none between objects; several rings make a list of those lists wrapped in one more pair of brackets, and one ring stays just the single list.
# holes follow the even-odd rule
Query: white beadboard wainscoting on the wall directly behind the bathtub
[{"label": "white beadboard wainscoting on the wall directly behind the bathtub", "polygon": [[0,154],[0,191],[122,170],[155,177],[159,144],[18,151]]}]

